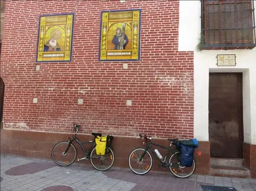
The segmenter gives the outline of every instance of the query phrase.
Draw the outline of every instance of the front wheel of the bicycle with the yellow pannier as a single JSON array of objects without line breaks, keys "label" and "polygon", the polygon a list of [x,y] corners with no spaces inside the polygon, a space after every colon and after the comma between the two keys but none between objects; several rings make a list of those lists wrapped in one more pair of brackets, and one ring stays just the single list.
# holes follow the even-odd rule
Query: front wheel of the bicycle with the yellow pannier
[{"label": "front wheel of the bicycle with the yellow pannier", "polygon": [[[67,148],[68,151],[64,154]],[[56,164],[60,166],[68,166],[75,161],[77,151],[72,143],[68,147],[68,141],[61,141],[52,148],[51,157]]]}]

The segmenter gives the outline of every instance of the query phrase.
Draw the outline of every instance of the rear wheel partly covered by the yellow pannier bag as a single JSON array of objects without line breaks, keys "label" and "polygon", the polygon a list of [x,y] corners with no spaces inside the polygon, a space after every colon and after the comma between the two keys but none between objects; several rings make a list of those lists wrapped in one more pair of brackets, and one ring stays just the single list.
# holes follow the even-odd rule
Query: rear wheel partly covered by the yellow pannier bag
[{"label": "rear wheel partly covered by the yellow pannier bag", "polygon": [[98,171],[107,171],[109,170],[115,160],[114,152],[110,147],[107,148],[105,155],[97,155],[96,148],[94,147],[90,154],[90,161],[92,166]]}]

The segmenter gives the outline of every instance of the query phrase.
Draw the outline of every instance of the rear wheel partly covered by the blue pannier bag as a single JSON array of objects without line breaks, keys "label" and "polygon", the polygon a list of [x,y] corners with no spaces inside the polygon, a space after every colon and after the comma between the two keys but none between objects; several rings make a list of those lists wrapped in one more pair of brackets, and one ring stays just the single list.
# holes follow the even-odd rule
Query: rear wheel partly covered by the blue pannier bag
[{"label": "rear wheel partly covered by the blue pannier bag", "polygon": [[188,178],[194,173],[195,160],[193,159],[192,166],[190,166],[190,167],[182,166],[179,162],[178,154],[179,154],[179,151],[177,151],[171,155],[171,157],[169,159],[169,164],[171,164],[169,166],[169,169],[175,177]]}]

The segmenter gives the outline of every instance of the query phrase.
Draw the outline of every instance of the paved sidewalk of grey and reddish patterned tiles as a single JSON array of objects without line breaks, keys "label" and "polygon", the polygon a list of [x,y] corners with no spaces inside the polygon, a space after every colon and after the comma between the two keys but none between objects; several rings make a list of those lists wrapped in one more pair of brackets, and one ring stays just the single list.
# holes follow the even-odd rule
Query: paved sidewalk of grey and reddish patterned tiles
[{"label": "paved sidewalk of grey and reddish patterned tiles", "polygon": [[256,179],[196,175],[179,179],[171,173],[151,171],[146,175],[135,175],[129,169],[116,168],[99,172],[89,165],[72,164],[62,167],[51,160],[1,155],[1,191],[202,191],[201,185],[230,186],[238,191],[254,191]]}]

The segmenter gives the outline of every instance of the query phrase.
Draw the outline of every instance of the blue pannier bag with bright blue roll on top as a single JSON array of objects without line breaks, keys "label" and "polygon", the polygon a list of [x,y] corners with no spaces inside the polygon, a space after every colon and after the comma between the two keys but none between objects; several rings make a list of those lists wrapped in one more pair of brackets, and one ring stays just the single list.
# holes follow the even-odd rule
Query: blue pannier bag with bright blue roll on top
[{"label": "blue pannier bag with bright blue roll on top", "polygon": [[194,148],[198,147],[198,141],[196,139],[179,141],[177,147],[181,154],[181,165],[186,167],[192,166],[194,158]]}]

